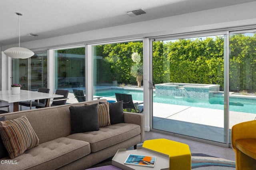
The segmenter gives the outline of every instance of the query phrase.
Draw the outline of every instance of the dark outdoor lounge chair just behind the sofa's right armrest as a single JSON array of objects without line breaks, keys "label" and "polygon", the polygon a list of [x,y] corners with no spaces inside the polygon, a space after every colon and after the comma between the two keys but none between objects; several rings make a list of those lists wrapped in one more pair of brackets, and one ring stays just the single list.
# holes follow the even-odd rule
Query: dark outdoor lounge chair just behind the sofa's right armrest
[{"label": "dark outdoor lounge chair just behind the sofa's right armrest", "polygon": [[123,101],[123,109],[135,109],[137,113],[143,112],[143,106],[140,104],[142,103],[133,103],[132,95],[122,94],[122,93],[115,93],[116,101]]}]

